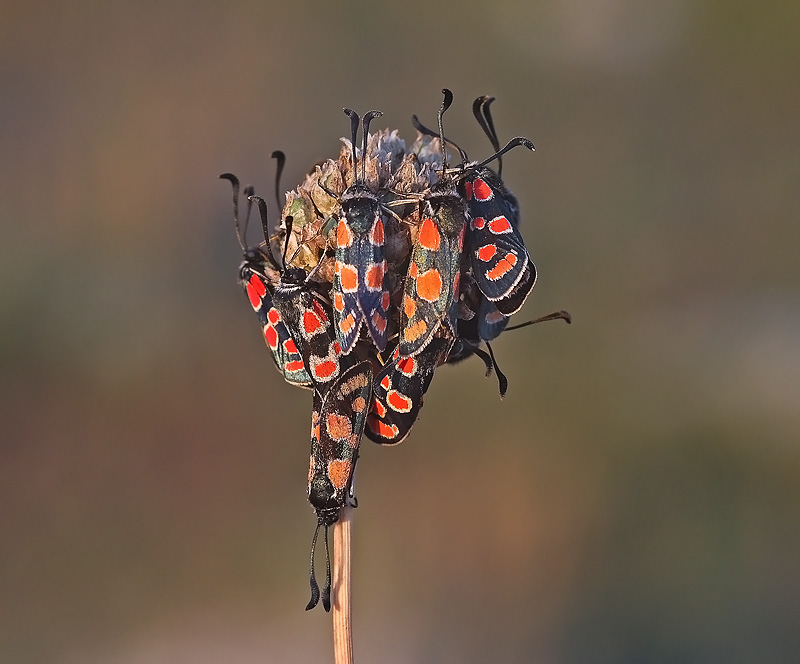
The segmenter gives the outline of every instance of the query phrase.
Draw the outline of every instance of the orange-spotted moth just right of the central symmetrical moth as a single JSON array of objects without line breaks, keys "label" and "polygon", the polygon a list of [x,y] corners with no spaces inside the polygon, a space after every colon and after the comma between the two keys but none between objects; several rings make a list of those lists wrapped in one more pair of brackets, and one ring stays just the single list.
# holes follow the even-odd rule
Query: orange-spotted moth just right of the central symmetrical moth
[{"label": "orange-spotted moth just right of the central symmetrical moth", "polygon": [[455,335],[458,321],[461,253],[468,217],[467,206],[456,191],[455,183],[445,175],[447,160],[442,117],[453,102],[453,93],[447,89],[443,92],[438,115],[442,174],[422,199],[422,223],[411,249],[398,346],[404,357],[412,357],[425,348],[442,322],[446,322],[451,335]]}]

